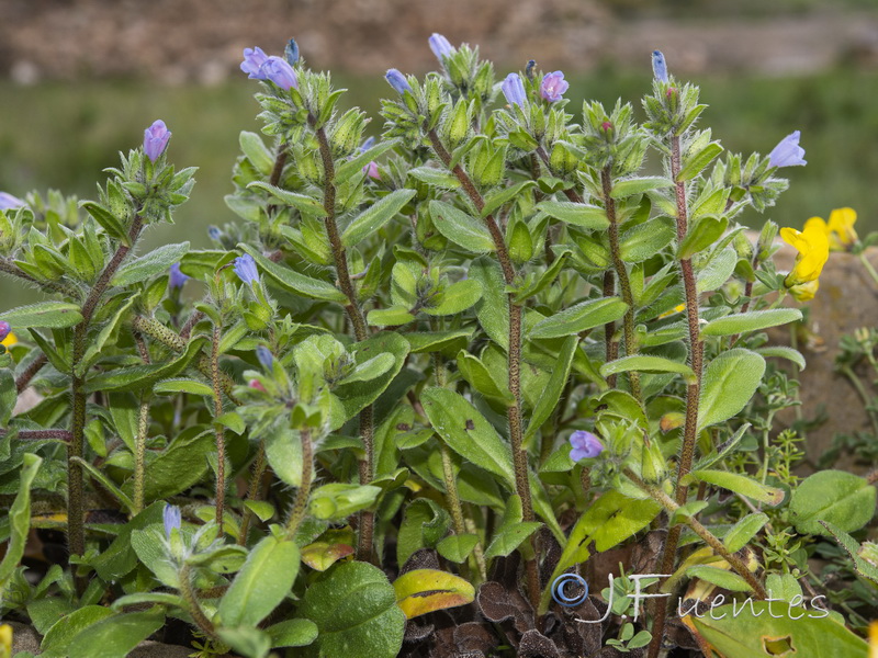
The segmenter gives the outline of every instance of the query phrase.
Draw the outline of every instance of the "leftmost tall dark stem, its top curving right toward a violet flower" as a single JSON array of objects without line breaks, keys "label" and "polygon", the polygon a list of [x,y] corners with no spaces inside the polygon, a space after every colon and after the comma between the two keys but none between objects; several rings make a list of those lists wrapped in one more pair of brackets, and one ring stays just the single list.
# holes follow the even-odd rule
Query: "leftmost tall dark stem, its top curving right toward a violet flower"
[{"label": "leftmost tall dark stem, its top curving right toward a violet flower", "polygon": [[77,374],[86,354],[89,325],[98,308],[110,280],[116,273],[125,257],[137,242],[143,229],[140,215],[134,217],[128,230],[128,245],[120,245],[104,268],[82,305],[82,319],[74,329],[74,353],[70,367],[72,413],[70,422],[70,443],[67,446],[67,541],[71,555],[82,555],[86,551],[86,530],[83,525],[83,481],[82,466],[76,458],[82,458],[86,431],[86,374]]}]

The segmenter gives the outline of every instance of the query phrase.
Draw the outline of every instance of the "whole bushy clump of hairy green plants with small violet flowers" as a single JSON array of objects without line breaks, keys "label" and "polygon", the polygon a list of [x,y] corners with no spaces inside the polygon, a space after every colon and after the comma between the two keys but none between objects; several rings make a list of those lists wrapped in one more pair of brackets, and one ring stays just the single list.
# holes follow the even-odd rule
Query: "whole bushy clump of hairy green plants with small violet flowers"
[{"label": "whole bushy clump of hairy green plants with small violet flowers", "polygon": [[46,297],[0,318],[4,617],[75,658],[863,655],[808,552],[875,488],[800,487],[770,431],[803,360],[765,330],[829,238],[784,229],[779,272],[740,223],[798,132],[724,152],[657,52],[642,109],[572,113],[562,71],[429,46],[380,136],[294,41],[247,48],[211,249],[138,250],[193,184],[161,122],[97,201],[0,197],[0,271]]}]

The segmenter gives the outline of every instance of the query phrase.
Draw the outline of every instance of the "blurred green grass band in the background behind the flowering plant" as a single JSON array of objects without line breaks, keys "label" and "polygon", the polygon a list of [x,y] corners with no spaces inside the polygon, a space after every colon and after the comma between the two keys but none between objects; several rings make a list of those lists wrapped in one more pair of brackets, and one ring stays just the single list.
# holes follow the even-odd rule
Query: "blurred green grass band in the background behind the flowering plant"
[{"label": "blurred green grass band in the background behind the flowering plant", "polygon": [[[588,76],[570,75],[571,103],[578,113],[587,97],[607,105],[621,97],[637,104],[649,89],[648,72],[633,75],[611,67]],[[826,217],[834,207],[852,206],[858,227],[878,229],[878,75],[837,70],[799,78],[754,78],[724,75],[694,79],[710,107],[705,125],[727,149],[768,152],[793,129],[801,129],[808,166],[785,171],[790,190],[766,217],[801,226],[808,217]],[[337,76],[350,90],[342,104],[360,104],[381,129],[379,99],[391,90],[374,79]],[[153,82],[52,83],[21,88],[0,82],[0,190],[23,196],[29,190],[55,188],[81,198],[95,196],[102,169],[119,162],[117,152],[139,145],[143,131],[162,118],[173,132],[170,158],[180,168],[198,166],[198,183],[175,226],[147,234],[146,243],[190,240],[206,247],[206,227],[235,220],[223,196],[232,191],[229,175],[238,155],[238,133],[258,131],[258,86],[234,80],[218,87],[160,88]],[[753,226],[763,218],[744,218]],[[33,293],[4,280],[0,310],[33,299]]]}]

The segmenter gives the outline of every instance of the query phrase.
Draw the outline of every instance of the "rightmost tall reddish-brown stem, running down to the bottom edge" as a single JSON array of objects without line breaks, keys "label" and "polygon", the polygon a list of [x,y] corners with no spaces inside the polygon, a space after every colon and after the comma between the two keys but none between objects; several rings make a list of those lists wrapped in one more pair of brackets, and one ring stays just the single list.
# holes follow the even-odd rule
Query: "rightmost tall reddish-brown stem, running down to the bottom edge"
[{"label": "rightmost tall reddish-brown stem, running down to the bottom edge", "polygon": [[[677,243],[683,242],[689,230],[688,211],[686,205],[686,182],[677,181],[677,175],[682,169],[682,157],[679,136],[671,137],[671,178],[675,182],[675,196],[677,202]],[[695,373],[695,379],[686,387],[686,420],[683,426],[683,445],[677,465],[677,485],[675,492],[676,503],[686,503],[689,488],[684,485],[684,477],[689,473],[695,458],[696,440],[698,439],[698,401],[701,395],[701,371],[703,368],[703,343],[700,340],[700,327],[698,321],[698,288],[695,281],[695,271],[691,259],[680,259],[680,274],[683,276],[683,287],[686,293],[686,318],[689,326],[689,366]],[[677,556],[677,544],[679,543],[682,526],[674,525],[667,531],[665,547],[662,554],[662,574],[672,574]],[[660,581],[660,587],[664,585],[664,579]],[[656,599],[655,622],[650,643],[649,658],[655,658],[662,646],[664,637],[665,616],[667,614],[667,600]]]}]

